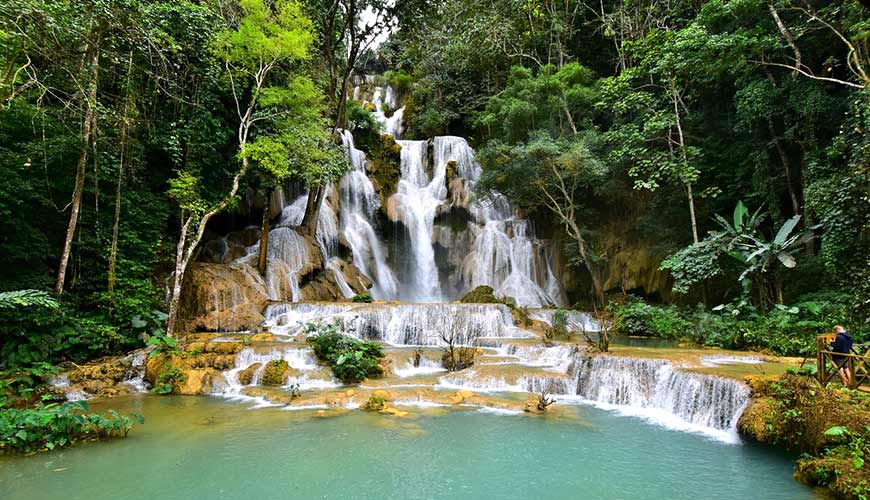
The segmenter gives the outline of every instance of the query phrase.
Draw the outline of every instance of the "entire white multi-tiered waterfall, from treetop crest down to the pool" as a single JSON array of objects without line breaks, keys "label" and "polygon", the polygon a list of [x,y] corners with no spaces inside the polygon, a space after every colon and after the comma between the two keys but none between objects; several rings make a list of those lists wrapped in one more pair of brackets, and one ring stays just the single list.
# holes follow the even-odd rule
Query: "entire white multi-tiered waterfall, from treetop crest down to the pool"
[{"label": "entire white multi-tiered waterfall, from treetop crest down to the pool", "polygon": [[[404,109],[399,96],[389,87],[372,88],[371,78],[360,84],[353,98],[371,103],[383,131],[398,139]],[[593,356],[578,346],[545,344],[539,332],[518,327],[511,309],[504,305],[443,303],[488,285],[497,295],[531,307],[529,316],[548,324],[552,324],[554,312],[547,307],[565,303],[564,290],[554,272],[556,250],[535,236],[531,222],[519,217],[504,196],[473,196],[482,170],[464,138],[398,140],[401,162],[393,193],[379,191],[383,181],[376,177],[377,171],[363,151],[356,148],[352,133],[341,131],[341,139],[352,168],[335,186],[327,188],[316,244],[297,231],[307,195],[289,204],[285,204],[283,192],[273,197],[273,205],[280,206],[282,212],[270,234],[269,266],[261,283],[273,301],[289,297],[294,303],[272,303],[266,308],[264,326],[273,337],[242,349],[233,368],[225,370],[222,381],[213,385],[215,394],[259,398],[260,404],[272,404],[268,391],[263,395],[257,388],[264,367],[275,361],[286,361],[290,370],[283,389],[269,390],[289,391],[298,386],[329,393],[339,384],[303,343],[305,325],[339,322],[349,334],[385,345],[394,376],[373,381],[380,385],[372,387],[434,391],[403,394],[406,399],[402,401],[441,405],[438,392],[456,390],[494,395],[555,394],[562,404],[599,405],[717,439],[735,439],[736,419],[748,400],[748,390],[737,381],[683,371],[667,361]],[[375,178],[379,180],[373,182]],[[384,222],[390,220],[396,224],[395,234],[404,235],[406,240],[385,241],[384,234],[389,234],[390,228]],[[229,252],[225,242],[219,250],[222,259]],[[299,276],[318,260],[314,255],[318,251],[323,272],[332,276],[343,298],[354,295],[343,272],[343,266],[349,264],[342,258],[348,257],[349,251],[348,261],[371,280],[374,298],[411,303],[298,302]],[[254,269],[258,253],[259,244],[254,244],[235,264]],[[256,273],[252,276],[262,280]],[[237,302],[235,297],[231,300]],[[599,329],[582,313],[569,313],[567,322],[570,330]],[[448,343],[478,352],[474,365],[447,372],[442,356]],[[720,357],[703,362],[717,365],[729,361]],[[244,380],[240,379],[242,374]],[[302,407],[335,404],[329,397]],[[286,400],[278,401],[276,404],[292,406]],[[351,397],[341,404],[355,408],[363,403],[365,399]]]}]

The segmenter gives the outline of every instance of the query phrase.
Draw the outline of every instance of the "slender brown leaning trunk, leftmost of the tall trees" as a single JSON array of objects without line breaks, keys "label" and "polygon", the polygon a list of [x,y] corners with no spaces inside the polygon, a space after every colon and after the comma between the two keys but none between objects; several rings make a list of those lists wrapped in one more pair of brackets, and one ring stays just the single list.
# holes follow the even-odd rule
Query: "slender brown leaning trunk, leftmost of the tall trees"
[{"label": "slender brown leaning trunk, leftmost of the tall trees", "polygon": [[82,195],[85,190],[85,168],[88,163],[88,148],[92,141],[92,135],[96,125],[95,107],[97,101],[97,77],[99,75],[100,51],[96,44],[90,46],[90,82],[88,84],[88,95],[85,97],[85,117],[82,121],[82,149],[79,154],[79,162],[76,168],[75,188],[73,189],[72,201],[70,203],[69,224],[66,229],[66,237],[63,243],[63,252],[60,256],[60,264],[57,268],[57,281],[54,285],[54,293],[58,297],[63,293],[63,286],[66,281],[66,269],[69,264],[69,256],[72,251],[72,240],[75,236],[76,226],[79,221],[79,211],[82,206]]}]

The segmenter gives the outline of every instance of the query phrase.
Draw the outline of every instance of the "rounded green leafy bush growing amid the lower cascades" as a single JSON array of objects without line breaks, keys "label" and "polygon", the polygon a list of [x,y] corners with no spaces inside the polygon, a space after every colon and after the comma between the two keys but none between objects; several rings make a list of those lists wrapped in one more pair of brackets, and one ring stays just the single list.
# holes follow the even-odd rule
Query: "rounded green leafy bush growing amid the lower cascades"
[{"label": "rounded green leafy bush growing amid the lower cascades", "polygon": [[308,324],[308,343],[317,359],[327,363],[336,378],[356,384],[383,375],[378,361],[384,357],[380,344],[363,342],[338,330],[338,325]]}]

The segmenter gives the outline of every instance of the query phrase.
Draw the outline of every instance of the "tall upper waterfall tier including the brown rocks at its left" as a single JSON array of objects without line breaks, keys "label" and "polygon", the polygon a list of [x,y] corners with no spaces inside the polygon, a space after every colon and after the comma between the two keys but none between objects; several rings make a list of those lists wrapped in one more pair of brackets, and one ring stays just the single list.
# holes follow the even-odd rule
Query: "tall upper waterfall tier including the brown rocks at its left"
[{"label": "tall upper waterfall tier including the brown rocks at its left", "polygon": [[[519,306],[565,304],[561,270],[554,270],[559,250],[538,239],[503,195],[476,193],[483,171],[468,142],[395,140],[403,131],[402,96],[375,81],[360,80],[352,95],[374,109],[386,134],[340,131],[351,168],[325,187],[316,234],[299,228],[311,208],[308,194],[286,186],[268,203],[280,215],[265,272],[258,269],[257,226],[209,241],[203,260],[225,267],[193,270],[202,276],[191,281],[206,288],[188,293],[197,297],[187,315],[195,327],[254,328],[249,319],[266,301],[341,300],[366,289],[378,300],[442,303],[486,285]],[[247,318],[239,318],[241,310]]]}]

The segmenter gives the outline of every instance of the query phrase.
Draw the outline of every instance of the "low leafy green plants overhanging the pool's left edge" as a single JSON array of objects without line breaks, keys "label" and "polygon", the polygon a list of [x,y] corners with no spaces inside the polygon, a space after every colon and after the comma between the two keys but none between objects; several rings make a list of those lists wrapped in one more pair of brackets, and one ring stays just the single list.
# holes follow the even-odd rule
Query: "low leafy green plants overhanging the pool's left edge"
[{"label": "low leafy green plants overhanging the pool's left edge", "polygon": [[0,450],[32,452],[53,450],[93,438],[126,437],[135,414],[119,415],[110,410],[88,414],[84,401],[39,404],[31,409],[0,409]]}]

